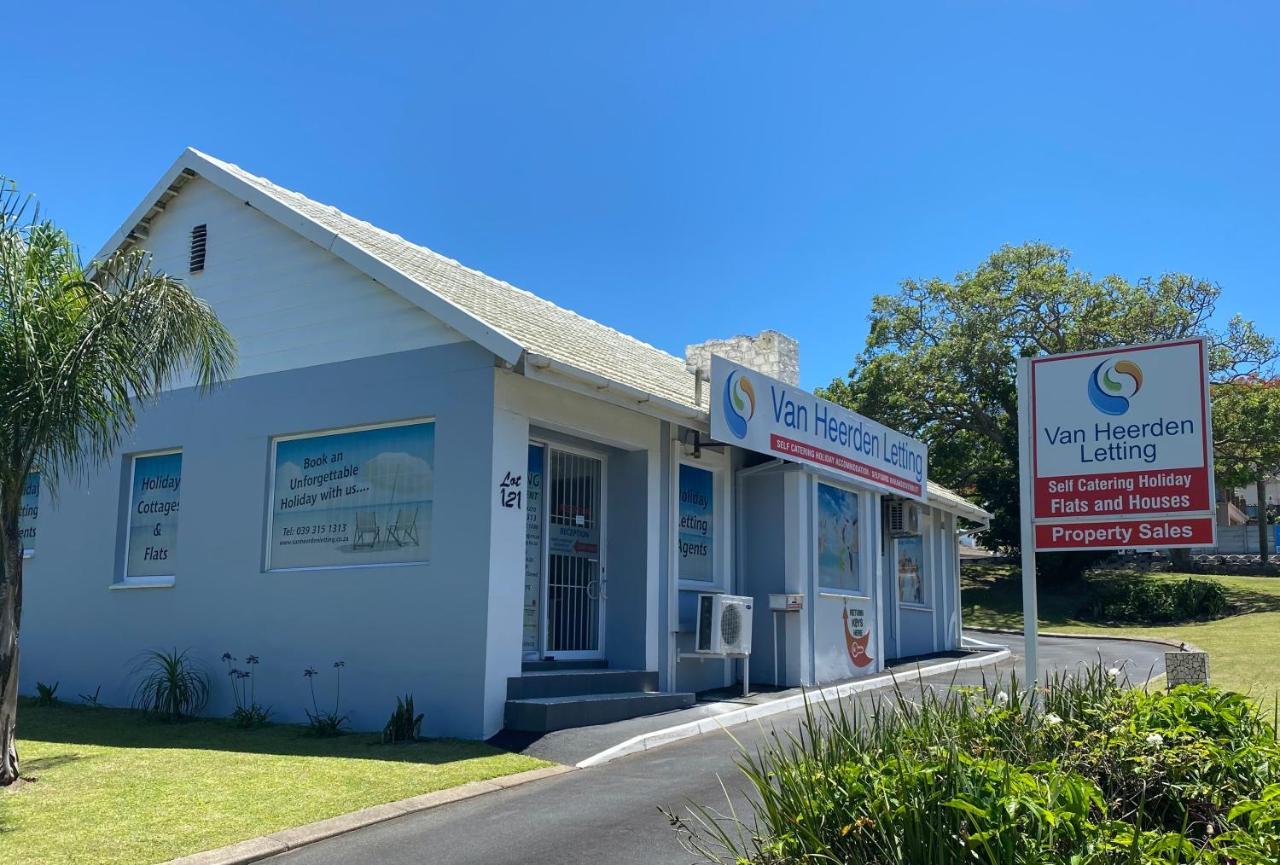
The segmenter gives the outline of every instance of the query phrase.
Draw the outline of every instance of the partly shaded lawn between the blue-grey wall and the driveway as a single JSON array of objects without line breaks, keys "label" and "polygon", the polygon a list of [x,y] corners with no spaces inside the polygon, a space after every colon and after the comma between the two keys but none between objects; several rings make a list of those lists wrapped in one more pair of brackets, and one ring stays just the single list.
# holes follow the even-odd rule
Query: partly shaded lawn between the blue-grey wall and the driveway
[{"label": "partly shaded lawn between the blue-grey wall and the driveway", "polygon": [[0,862],[161,862],[370,805],[536,769],[480,742],[378,743],[168,724],[122,709],[22,701],[24,774],[0,791]]}]

